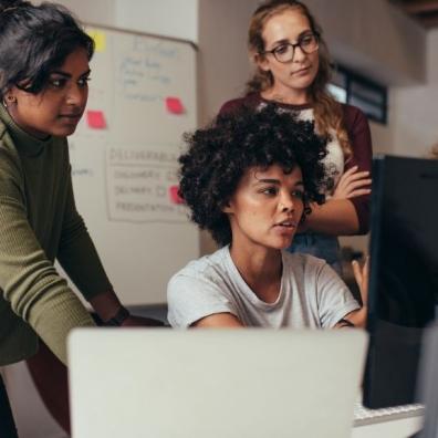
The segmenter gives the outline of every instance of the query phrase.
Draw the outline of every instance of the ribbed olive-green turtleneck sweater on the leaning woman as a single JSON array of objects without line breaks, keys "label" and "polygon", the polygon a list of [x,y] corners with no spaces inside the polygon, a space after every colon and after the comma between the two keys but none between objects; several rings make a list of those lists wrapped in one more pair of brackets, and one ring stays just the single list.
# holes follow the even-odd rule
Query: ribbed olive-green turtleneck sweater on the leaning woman
[{"label": "ribbed olive-green turtleneck sweater on the leaning woman", "polygon": [[38,336],[66,362],[71,328],[94,325],[53,267],[85,299],[112,289],[77,213],[65,138],[27,134],[0,104],[0,365],[38,350]]}]

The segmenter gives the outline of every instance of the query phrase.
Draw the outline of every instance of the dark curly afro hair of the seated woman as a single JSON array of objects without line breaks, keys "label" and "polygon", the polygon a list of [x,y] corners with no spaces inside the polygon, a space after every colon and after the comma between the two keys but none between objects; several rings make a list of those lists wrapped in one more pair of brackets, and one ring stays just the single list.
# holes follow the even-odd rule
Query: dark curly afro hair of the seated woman
[{"label": "dark curly afro hair of the seated woman", "polygon": [[299,121],[268,104],[261,109],[242,106],[220,114],[206,128],[185,134],[188,150],[179,157],[179,195],[191,210],[191,220],[226,246],[231,228],[222,208],[250,167],[280,165],[285,173],[299,166],[304,182],[304,213],[309,204],[324,201],[326,139],[312,122]]}]

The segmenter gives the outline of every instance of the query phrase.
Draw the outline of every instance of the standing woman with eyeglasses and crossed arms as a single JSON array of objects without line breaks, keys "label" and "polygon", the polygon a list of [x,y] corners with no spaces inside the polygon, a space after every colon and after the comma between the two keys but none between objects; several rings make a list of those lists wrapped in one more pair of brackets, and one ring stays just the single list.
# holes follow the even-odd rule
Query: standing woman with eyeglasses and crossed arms
[{"label": "standing woman with eyeglasses and crossed arms", "polygon": [[316,133],[328,140],[326,201],[312,204],[312,213],[290,251],[325,259],[342,273],[337,236],[368,231],[372,143],[367,119],[328,93],[328,51],[321,28],[302,2],[264,1],[251,19],[249,50],[255,73],[246,95],[227,102],[220,113],[275,103],[281,112],[313,121]]}]

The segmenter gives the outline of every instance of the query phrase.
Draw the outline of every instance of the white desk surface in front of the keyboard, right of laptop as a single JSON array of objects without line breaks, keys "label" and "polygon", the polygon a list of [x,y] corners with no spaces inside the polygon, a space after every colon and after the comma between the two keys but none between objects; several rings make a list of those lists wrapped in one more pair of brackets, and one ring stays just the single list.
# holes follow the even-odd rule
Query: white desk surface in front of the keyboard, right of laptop
[{"label": "white desk surface in front of the keyboard, right of laptop", "polygon": [[356,426],[352,438],[408,438],[420,430],[423,416],[399,418],[373,425]]}]

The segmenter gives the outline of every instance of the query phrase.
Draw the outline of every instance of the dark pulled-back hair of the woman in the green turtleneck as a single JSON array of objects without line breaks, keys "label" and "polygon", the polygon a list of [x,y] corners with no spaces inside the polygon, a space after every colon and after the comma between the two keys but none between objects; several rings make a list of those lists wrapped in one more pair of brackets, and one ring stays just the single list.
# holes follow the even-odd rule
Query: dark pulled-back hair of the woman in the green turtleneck
[{"label": "dark pulled-back hair of the woman in the green turtleneck", "polygon": [[0,97],[12,86],[40,93],[51,72],[80,48],[91,60],[94,42],[64,7],[0,0]]}]

